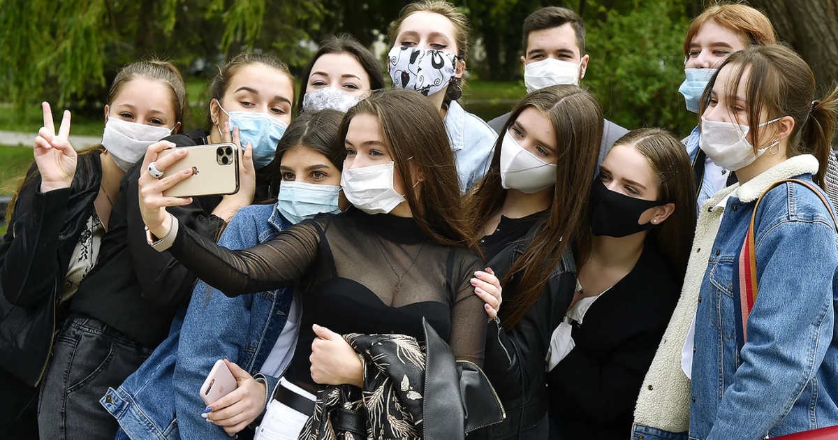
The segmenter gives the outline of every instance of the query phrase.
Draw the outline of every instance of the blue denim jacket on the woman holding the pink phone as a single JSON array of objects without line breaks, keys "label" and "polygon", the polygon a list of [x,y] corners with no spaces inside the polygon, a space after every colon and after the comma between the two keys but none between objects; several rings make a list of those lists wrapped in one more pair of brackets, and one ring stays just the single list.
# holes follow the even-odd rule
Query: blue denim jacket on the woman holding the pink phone
[{"label": "blue denim jacket on the woman holding the pink phone", "polygon": [[[289,225],[276,205],[247,206],[230,220],[219,245],[256,246]],[[265,380],[266,396],[272,396],[278,378],[261,375],[259,369],[282,333],[291,300],[291,289],[227,298],[199,281],[189,309],[178,312],[168,338],[122,386],[108,390],[101,404],[134,439],[229,439],[201,417],[206,405],[200,386],[215,361],[227,356]]]}]

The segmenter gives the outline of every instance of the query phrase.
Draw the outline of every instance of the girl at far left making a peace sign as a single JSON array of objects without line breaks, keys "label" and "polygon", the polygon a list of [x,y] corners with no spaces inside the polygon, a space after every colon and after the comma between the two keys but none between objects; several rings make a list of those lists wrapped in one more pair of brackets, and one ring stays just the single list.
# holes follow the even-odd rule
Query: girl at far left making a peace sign
[{"label": "girl at far left making a peace sign", "polygon": [[[66,345],[78,342],[65,331],[53,335],[72,315],[70,300],[96,266],[120,179],[147,145],[180,131],[184,96],[184,81],[173,65],[156,60],[128,65],[111,85],[101,145],[80,152],[69,141],[70,111],[56,125],[49,103],[43,103],[35,161],[10,204],[8,232],[0,245],[0,380],[11,401],[11,411],[0,413],[0,437],[38,437],[35,410],[50,355],[72,355]],[[129,347],[113,344],[111,350],[142,359]],[[73,400],[83,398],[89,380],[69,373],[71,391],[79,391]],[[81,417],[87,415],[73,403],[61,408],[67,412],[62,425],[68,428],[85,424]],[[53,423],[59,412],[41,415],[41,437],[59,437]]]}]

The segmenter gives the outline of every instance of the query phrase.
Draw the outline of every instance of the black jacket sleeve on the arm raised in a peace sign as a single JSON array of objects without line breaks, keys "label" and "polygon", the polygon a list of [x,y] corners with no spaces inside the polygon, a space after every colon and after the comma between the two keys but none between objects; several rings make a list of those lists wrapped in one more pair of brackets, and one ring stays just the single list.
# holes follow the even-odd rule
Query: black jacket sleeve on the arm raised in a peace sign
[{"label": "black jacket sleeve on the arm raised in a peace sign", "polygon": [[47,193],[33,163],[0,245],[0,368],[30,386],[49,360],[56,298],[99,194],[99,155],[81,155],[70,188]]}]

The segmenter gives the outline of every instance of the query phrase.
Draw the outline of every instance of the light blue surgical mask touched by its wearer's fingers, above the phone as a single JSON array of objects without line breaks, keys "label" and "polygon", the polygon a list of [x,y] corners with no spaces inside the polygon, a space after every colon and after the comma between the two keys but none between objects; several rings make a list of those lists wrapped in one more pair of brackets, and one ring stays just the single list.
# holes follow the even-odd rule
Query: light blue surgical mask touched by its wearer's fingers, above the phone
[{"label": "light blue surgical mask touched by its wearer's fingers, above the phone", "polygon": [[[239,127],[241,148],[246,148],[247,142],[251,142],[253,166],[259,169],[271,163],[277,153],[277,143],[285,134],[288,124],[261,111],[230,111],[228,113],[220,102],[218,107],[230,118],[230,129]],[[218,130],[221,132],[220,127]]]}]

